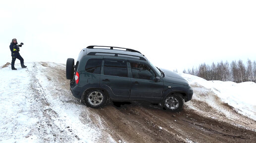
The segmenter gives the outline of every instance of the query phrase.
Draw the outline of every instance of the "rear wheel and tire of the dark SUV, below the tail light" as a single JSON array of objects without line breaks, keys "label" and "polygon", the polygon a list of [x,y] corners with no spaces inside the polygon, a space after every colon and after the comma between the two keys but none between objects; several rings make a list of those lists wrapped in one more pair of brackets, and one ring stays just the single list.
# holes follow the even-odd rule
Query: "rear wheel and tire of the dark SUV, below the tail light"
[{"label": "rear wheel and tire of the dark SUV, below the tail light", "polygon": [[102,108],[106,106],[108,101],[107,95],[98,89],[86,91],[81,98],[81,103],[87,107]]}]

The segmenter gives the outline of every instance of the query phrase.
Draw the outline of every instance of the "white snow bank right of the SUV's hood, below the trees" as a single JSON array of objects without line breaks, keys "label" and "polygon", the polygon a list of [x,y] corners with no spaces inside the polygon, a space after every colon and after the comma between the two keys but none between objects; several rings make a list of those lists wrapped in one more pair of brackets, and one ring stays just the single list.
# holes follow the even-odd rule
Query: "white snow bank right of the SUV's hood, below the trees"
[{"label": "white snow bank right of the SUV's hood, below the trees", "polygon": [[[256,120],[256,83],[255,82],[242,82],[235,83],[232,81],[207,81],[203,78],[180,73],[191,85],[202,86],[199,90],[203,93],[205,90],[214,92],[223,103],[227,103],[229,106],[234,107],[239,113],[248,116]],[[192,87],[193,90],[197,90],[197,87]],[[193,95],[193,99],[196,95]],[[207,97],[206,101],[212,107],[216,107],[212,97]],[[222,109],[219,109],[222,110]],[[227,115],[228,112],[225,112]],[[214,118],[214,117],[212,117]]]}]

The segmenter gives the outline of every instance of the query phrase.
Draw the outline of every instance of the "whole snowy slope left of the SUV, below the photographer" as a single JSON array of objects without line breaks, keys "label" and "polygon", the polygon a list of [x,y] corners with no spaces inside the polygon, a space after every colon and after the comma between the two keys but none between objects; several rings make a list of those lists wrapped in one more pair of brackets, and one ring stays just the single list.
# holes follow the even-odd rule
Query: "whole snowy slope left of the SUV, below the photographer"
[{"label": "whole snowy slope left of the SUV, below the photographer", "polygon": [[[97,142],[99,127],[92,126],[90,113],[73,99],[66,83],[52,82],[46,70],[64,65],[26,63],[27,69],[0,69],[0,142]],[[48,69],[46,68],[48,66]],[[51,73],[51,72],[50,72]],[[54,78],[64,73],[52,71]],[[70,103],[72,104],[70,104]],[[84,122],[79,112],[84,113]],[[96,116],[97,117],[97,116]],[[106,137],[112,141],[111,137]]]}]

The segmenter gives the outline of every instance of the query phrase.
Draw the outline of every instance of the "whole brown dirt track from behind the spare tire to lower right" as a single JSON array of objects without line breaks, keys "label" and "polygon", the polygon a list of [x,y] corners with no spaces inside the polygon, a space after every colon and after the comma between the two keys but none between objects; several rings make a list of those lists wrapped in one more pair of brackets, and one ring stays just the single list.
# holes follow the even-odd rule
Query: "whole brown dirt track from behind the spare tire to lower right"
[{"label": "whole brown dirt track from behind the spare tire to lower right", "polygon": [[[65,77],[63,67],[49,67],[47,63],[42,66],[49,68],[47,78],[56,80],[58,88],[69,89],[68,80]],[[64,77],[53,78],[55,73]],[[196,86],[194,86],[196,88]],[[72,97],[71,92],[67,98],[71,103],[79,104]],[[218,101],[218,99],[216,99]],[[221,104],[221,103],[220,103]],[[195,110],[190,108],[193,105]],[[232,111],[232,107],[222,104],[226,110],[231,110],[240,119],[230,119],[198,100],[185,103],[182,112],[170,112],[161,107],[142,103],[125,104],[116,107],[112,104],[102,109],[87,108],[87,115],[96,126],[103,126],[103,137],[110,135],[116,142],[126,143],[152,143],[152,142],[224,142],[224,143],[255,143],[256,121]],[[211,113],[212,112],[212,113]],[[84,112],[80,113],[80,120],[84,122]],[[209,117],[211,115],[211,117]],[[99,119],[100,118],[100,123]],[[240,123],[240,124],[239,124]],[[237,125],[237,126],[235,126]],[[240,127],[239,127],[240,126]],[[243,127],[242,127],[243,126]],[[102,139],[104,140],[104,139]],[[97,142],[100,142],[97,141]]]}]

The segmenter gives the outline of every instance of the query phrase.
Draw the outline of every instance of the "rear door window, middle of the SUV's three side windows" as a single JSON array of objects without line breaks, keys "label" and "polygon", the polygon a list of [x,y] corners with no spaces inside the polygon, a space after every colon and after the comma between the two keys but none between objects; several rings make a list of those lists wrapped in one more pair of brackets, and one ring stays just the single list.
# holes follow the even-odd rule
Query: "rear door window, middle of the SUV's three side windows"
[{"label": "rear door window, middle of the SUV's three side windows", "polygon": [[122,60],[105,60],[104,75],[128,77],[127,62]]}]

